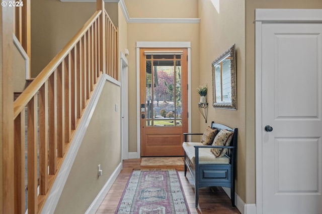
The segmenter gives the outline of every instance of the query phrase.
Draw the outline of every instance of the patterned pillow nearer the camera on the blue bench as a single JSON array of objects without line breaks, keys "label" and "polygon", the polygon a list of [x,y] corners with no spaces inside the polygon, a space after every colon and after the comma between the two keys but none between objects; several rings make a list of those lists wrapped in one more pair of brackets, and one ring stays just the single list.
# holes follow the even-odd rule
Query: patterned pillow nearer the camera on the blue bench
[{"label": "patterned pillow nearer the camera on the blue bench", "polygon": [[[213,146],[229,146],[232,139],[233,132],[226,129],[222,129],[216,135],[213,140]],[[211,148],[211,152],[214,153],[216,157],[222,157],[226,154],[227,149],[223,148]]]}]

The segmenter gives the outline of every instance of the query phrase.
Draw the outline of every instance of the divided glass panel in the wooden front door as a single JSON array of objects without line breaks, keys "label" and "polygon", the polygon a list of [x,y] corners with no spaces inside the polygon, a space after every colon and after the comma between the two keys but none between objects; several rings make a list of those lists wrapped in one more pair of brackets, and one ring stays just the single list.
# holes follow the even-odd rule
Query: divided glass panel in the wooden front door
[{"label": "divided glass panel in the wooden front door", "polygon": [[182,126],[181,60],[152,55],[146,60],[146,126]]}]

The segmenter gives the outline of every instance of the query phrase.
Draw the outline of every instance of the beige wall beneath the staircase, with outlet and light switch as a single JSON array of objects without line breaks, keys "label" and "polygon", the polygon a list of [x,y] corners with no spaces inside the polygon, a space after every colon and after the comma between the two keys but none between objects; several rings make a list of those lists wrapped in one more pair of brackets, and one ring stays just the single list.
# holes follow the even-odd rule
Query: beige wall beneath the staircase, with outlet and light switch
[{"label": "beige wall beneath the staircase, with outlet and light switch", "polygon": [[[121,163],[120,87],[106,81],[55,213],[85,213]],[[121,109],[121,108],[119,108]],[[98,177],[98,164],[103,176]]]}]

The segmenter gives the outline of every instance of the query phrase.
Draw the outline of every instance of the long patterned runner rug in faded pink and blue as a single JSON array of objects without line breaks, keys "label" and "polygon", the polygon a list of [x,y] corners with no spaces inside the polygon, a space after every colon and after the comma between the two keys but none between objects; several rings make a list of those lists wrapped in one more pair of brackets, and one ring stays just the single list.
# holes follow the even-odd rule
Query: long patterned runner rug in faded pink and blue
[{"label": "long patterned runner rug in faded pink and blue", "polygon": [[134,169],[115,213],[190,214],[176,169]]}]

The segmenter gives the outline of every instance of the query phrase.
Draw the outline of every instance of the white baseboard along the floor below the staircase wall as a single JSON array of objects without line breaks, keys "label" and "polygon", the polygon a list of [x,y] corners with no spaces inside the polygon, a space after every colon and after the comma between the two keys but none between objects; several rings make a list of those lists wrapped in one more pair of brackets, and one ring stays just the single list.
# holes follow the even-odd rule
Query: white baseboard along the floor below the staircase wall
[{"label": "white baseboard along the floor below the staircase wall", "polygon": [[97,209],[99,208],[99,206],[102,204],[102,202],[103,202],[106,194],[108,193],[108,191],[112,187],[112,184],[116,180],[117,176],[120,174],[122,168],[123,168],[123,165],[122,165],[122,162],[121,162],[116,167],[116,169],[112,173],[111,177],[106,181],[105,185],[103,186],[103,188],[101,189],[101,191],[98,193],[98,195],[96,196],[96,198],[93,200],[92,204],[87,209],[87,211],[85,212],[85,214],[92,214],[92,213],[95,213],[97,211]]}]

